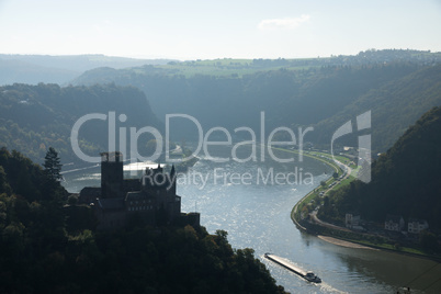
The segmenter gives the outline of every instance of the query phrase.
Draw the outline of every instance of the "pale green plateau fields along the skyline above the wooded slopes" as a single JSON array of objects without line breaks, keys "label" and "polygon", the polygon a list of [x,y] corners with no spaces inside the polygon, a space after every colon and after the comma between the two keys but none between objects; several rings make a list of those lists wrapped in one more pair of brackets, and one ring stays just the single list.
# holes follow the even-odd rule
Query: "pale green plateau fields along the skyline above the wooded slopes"
[{"label": "pale green plateau fields along the skyline above the wooded slopes", "polygon": [[[136,66],[135,68],[126,68],[120,72],[110,72],[98,70],[84,72],[78,77],[74,83],[89,84],[102,82],[105,79],[121,78],[127,74],[134,75],[161,75],[161,76],[183,76],[192,78],[194,76],[212,76],[224,78],[242,78],[247,75],[252,75],[269,70],[287,69],[295,71],[305,71],[309,69],[319,69],[323,67],[372,67],[374,65],[388,65],[396,63],[411,63],[420,66],[430,66],[441,61],[441,53],[431,53],[423,50],[411,49],[369,49],[360,52],[357,55],[338,55],[325,58],[294,58],[294,59],[233,59],[219,58],[207,60],[171,60],[167,64],[148,63],[150,66]],[[103,65],[103,67],[112,67]],[[116,67],[113,67],[116,68]],[[109,80],[108,80],[109,81]]]}]

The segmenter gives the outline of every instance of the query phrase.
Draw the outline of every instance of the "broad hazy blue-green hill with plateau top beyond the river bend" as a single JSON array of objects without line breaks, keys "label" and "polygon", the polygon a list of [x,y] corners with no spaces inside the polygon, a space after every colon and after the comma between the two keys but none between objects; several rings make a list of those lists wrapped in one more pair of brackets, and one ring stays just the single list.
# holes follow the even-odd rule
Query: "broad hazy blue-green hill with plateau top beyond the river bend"
[{"label": "broad hazy blue-green hill with plateau top beyond the river bend", "polygon": [[[436,57],[429,53],[385,50],[326,60],[281,59],[274,64],[214,60],[213,75],[205,71],[208,61],[121,70],[99,68],[84,72],[76,82],[138,87],[160,120],[166,114],[185,113],[204,129],[259,129],[260,112],[264,111],[268,128],[314,126],[305,139],[319,145],[329,145],[340,125],[371,110],[373,149],[385,151],[422,113],[441,105],[441,67],[434,66]],[[234,67],[236,75],[215,74],[216,69],[233,72]],[[183,136],[191,126],[181,124],[174,133]],[[354,139],[357,135],[339,143],[354,145]]]}]

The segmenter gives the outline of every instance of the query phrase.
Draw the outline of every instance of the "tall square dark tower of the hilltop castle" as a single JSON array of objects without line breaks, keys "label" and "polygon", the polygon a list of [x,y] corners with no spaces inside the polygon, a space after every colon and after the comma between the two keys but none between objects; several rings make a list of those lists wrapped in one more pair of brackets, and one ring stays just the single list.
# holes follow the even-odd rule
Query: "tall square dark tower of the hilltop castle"
[{"label": "tall square dark tower of the hilltop castle", "polygon": [[123,155],[120,151],[101,154],[101,197],[122,197],[124,188]]}]

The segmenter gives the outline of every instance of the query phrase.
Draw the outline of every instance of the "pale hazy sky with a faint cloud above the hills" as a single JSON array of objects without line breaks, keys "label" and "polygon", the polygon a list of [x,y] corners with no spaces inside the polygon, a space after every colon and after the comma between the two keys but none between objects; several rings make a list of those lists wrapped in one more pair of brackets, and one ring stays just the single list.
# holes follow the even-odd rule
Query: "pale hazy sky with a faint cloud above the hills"
[{"label": "pale hazy sky with a faint cloud above the hills", "polygon": [[293,58],[441,52],[441,0],[0,0],[0,53]]}]

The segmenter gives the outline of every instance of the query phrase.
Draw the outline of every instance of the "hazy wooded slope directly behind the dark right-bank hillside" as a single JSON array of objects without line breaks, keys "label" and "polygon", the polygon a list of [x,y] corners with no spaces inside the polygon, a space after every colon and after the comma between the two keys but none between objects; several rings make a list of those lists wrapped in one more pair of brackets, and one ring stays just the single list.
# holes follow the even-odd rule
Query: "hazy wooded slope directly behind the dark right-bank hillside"
[{"label": "hazy wooded slope directly behind the dark right-bank hillside", "polygon": [[[372,146],[384,152],[432,106],[441,105],[441,65],[425,67],[403,78],[373,87],[332,116],[315,126],[313,140],[329,143],[333,132],[366,111],[372,113]],[[357,135],[342,137],[340,145],[357,146]]]}]

